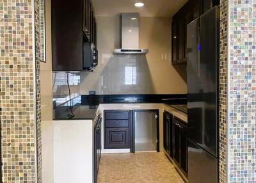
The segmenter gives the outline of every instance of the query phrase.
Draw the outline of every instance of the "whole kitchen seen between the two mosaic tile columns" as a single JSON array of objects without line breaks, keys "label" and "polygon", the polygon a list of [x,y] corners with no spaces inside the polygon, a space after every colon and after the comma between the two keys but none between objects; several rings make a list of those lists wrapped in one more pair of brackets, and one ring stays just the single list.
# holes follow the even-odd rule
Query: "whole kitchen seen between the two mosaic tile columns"
[{"label": "whole kitchen seen between the two mosaic tile columns", "polygon": [[[48,3],[52,67],[48,60],[41,79],[45,86],[52,81],[53,111],[42,123],[43,180],[218,182],[220,2]],[[173,173],[136,175],[145,167],[129,154],[152,161],[164,155]],[[116,158],[140,168],[104,166],[127,166]],[[158,165],[156,172],[165,167]]]}]

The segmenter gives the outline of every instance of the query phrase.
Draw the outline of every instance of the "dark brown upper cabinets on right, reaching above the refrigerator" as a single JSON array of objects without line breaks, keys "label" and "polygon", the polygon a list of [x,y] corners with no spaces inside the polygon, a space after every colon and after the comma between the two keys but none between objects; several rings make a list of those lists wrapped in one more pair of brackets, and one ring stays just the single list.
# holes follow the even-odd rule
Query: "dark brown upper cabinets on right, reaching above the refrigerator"
[{"label": "dark brown upper cabinets on right, reaching above the refrigerator", "polygon": [[202,13],[220,4],[220,0],[189,0],[172,19],[172,63],[187,61],[187,25]]}]

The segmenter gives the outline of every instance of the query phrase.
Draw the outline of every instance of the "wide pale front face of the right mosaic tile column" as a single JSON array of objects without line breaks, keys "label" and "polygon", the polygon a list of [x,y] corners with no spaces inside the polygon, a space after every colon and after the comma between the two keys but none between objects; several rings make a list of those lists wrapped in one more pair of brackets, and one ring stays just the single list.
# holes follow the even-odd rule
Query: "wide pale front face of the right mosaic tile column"
[{"label": "wide pale front face of the right mosaic tile column", "polygon": [[256,182],[256,1],[228,8],[228,182]]}]

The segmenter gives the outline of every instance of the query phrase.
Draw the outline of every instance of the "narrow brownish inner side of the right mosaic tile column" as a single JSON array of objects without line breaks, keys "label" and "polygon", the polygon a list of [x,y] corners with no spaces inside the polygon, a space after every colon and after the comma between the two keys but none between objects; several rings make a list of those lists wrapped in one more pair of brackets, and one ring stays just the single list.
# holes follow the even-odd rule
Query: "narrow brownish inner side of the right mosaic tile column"
[{"label": "narrow brownish inner side of the right mosaic tile column", "polygon": [[227,182],[227,4],[220,1],[220,183]]}]

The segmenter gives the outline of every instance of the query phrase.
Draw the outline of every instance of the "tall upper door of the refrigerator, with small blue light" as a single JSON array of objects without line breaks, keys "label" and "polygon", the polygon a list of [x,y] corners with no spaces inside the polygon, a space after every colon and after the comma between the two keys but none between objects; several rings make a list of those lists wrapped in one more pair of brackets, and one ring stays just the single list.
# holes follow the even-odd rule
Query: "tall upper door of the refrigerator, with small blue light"
[{"label": "tall upper door of the refrigerator, with small blue light", "polygon": [[[214,7],[201,15],[198,50],[195,51],[197,40],[191,39],[193,43],[190,44],[193,47],[188,54],[189,138],[216,157],[218,157],[219,13],[218,7]],[[195,34],[194,27],[193,24],[189,24],[188,36]],[[199,59],[195,57],[198,51]]]}]

